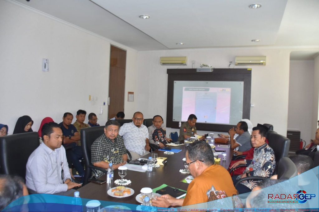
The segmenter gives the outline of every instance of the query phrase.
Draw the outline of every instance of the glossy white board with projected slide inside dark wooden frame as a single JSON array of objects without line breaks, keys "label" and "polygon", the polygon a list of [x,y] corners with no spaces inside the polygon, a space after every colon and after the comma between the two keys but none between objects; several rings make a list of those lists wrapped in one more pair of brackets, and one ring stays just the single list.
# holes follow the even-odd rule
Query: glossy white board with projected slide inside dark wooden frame
[{"label": "glossy white board with projected slide inside dark wooden frame", "polygon": [[237,124],[242,118],[243,82],[174,81],[173,121]]}]

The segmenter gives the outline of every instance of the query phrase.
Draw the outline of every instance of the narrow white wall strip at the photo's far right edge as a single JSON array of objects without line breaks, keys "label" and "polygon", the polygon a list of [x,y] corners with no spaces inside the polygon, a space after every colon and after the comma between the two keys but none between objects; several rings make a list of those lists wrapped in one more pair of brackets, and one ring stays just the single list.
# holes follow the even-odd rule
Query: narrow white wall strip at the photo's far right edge
[{"label": "narrow white wall strip at the photo's far right edge", "polygon": [[312,138],[315,138],[315,132],[318,128],[319,120],[319,55],[315,58],[315,74],[313,88],[313,107],[312,107]]}]

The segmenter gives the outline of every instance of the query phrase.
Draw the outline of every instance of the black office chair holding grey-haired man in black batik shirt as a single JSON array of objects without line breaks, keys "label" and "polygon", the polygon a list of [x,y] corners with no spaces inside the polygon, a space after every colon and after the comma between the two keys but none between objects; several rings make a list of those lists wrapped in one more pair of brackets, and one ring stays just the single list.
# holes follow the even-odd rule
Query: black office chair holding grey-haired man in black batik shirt
[{"label": "black office chair holding grey-haired man in black batik shirt", "polygon": [[[88,183],[88,180],[92,175],[92,169],[97,169],[104,173],[108,173],[107,170],[101,167],[93,166],[93,164],[91,163],[91,145],[96,140],[96,138],[99,138],[104,133],[104,127],[105,126],[89,127],[81,130],[81,146],[85,162],[83,185],[86,185]],[[126,150],[126,152],[128,153],[129,158],[132,159],[130,152],[128,150]]]}]

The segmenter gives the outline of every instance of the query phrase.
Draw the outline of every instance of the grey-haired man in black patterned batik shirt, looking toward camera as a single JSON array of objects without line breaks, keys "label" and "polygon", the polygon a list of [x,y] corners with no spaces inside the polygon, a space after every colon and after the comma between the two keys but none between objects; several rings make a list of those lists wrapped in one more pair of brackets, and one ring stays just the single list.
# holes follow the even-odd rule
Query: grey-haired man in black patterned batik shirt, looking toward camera
[{"label": "grey-haired man in black patterned batik shirt, looking toward camera", "polygon": [[[104,133],[91,145],[91,162],[93,166],[108,169],[109,163],[117,169],[127,163],[126,148],[123,138],[118,135],[120,124],[115,120],[109,120],[105,124]],[[105,173],[93,170],[92,176],[99,178]]]}]

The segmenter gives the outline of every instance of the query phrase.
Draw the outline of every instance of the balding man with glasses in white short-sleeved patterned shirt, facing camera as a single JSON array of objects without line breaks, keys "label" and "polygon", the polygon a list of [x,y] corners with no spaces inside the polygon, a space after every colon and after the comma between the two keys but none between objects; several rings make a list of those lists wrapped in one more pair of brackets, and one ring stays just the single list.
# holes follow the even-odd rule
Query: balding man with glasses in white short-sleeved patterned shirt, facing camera
[{"label": "balding man with glasses in white short-sleeved patterned shirt, facing camera", "polygon": [[148,130],[143,125],[144,117],[141,112],[135,112],[131,123],[123,124],[119,135],[123,137],[126,149],[131,153],[132,160],[149,153],[151,147],[148,140]]}]

